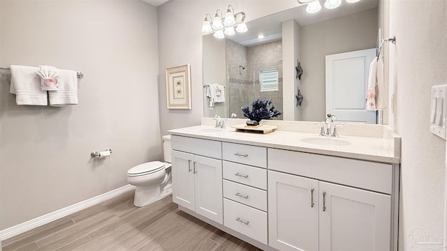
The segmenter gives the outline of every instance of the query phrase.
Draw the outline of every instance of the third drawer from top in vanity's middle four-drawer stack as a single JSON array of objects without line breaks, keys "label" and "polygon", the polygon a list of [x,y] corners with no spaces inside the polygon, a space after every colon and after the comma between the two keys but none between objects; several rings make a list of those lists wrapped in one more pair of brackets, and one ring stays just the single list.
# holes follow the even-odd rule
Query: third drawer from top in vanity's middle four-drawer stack
[{"label": "third drawer from top in vanity's middle four-drawer stack", "polygon": [[223,197],[267,211],[267,191],[223,180]]}]

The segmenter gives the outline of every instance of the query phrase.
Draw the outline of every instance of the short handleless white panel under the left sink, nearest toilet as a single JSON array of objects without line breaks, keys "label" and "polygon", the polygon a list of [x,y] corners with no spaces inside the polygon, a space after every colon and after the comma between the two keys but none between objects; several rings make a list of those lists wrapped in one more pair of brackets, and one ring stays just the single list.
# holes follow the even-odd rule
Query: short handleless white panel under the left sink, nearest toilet
[{"label": "short handleless white panel under the left sink, nearest toilet", "polygon": [[173,150],[217,159],[222,158],[222,142],[177,135],[172,135],[170,139]]}]

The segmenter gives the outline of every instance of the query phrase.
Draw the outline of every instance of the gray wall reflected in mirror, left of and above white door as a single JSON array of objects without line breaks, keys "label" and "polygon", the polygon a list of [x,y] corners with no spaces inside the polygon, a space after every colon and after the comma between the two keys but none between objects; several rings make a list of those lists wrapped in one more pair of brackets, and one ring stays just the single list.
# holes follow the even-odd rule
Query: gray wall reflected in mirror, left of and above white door
[{"label": "gray wall reflected in mirror, left of and above white door", "polygon": [[325,55],[376,47],[377,8],[301,26],[303,121],[325,118]]}]

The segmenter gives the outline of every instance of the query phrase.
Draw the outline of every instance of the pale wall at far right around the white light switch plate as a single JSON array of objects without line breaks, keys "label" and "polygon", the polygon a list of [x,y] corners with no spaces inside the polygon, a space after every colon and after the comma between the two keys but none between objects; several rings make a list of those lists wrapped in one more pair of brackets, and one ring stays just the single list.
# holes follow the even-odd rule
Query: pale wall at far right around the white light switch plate
[{"label": "pale wall at far right around the white light switch plate", "polygon": [[390,34],[391,115],[402,136],[399,250],[420,249],[411,245],[421,230],[445,247],[446,140],[429,128],[431,88],[447,84],[447,1],[390,1]]}]

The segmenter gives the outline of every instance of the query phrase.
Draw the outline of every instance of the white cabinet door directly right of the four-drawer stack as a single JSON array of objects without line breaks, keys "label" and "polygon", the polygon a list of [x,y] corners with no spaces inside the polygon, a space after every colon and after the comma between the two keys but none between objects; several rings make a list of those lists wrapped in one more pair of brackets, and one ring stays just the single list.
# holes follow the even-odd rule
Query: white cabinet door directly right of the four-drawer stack
[{"label": "white cabinet door directly right of the four-drawer stack", "polygon": [[268,171],[268,226],[273,248],[318,250],[318,181]]}]

